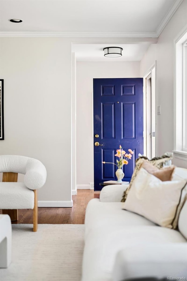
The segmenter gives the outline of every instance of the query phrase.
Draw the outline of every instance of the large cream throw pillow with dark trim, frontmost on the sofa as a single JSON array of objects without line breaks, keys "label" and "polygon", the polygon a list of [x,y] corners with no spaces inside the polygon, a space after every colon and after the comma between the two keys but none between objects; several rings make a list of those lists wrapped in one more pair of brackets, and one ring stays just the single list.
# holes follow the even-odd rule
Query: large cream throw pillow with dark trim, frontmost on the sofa
[{"label": "large cream throw pillow with dark trim, frontmost on the sofa", "polygon": [[174,228],[181,192],[186,180],[161,181],[141,168],[129,190],[123,209],[137,213],[148,220]]}]

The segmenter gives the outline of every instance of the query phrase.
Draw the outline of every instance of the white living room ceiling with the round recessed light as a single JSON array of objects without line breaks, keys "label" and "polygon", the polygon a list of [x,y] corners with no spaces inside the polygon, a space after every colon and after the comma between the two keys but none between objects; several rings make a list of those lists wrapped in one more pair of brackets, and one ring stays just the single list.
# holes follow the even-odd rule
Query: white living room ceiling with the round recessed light
[{"label": "white living room ceiling with the round recessed light", "polygon": [[[181,0],[1,0],[1,32],[156,32]],[[11,23],[18,18],[22,23]]]}]

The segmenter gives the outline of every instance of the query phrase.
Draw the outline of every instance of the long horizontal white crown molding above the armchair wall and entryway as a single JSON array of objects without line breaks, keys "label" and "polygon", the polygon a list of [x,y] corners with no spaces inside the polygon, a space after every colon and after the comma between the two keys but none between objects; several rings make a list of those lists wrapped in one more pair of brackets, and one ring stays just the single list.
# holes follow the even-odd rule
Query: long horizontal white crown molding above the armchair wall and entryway
[{"label": "long horizontal white crown molding above the armchair wall and entryway", "polygon": [[156,32],[0,32],[0,37],[157,37]]}]

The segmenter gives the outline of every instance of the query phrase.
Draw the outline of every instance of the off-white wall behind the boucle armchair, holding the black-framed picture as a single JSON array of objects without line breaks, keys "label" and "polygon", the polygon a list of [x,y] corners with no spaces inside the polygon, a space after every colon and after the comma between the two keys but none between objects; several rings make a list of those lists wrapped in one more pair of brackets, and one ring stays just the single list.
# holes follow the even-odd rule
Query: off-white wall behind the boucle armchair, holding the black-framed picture
[{"label": "off-white wall behind the boucle armchair, holding the black-framed picture", "polygon": [[5,128],[0,153],[43,162],[47,181],[39,206],[70,207],[71,40],[1,38],[0,54]]}]

